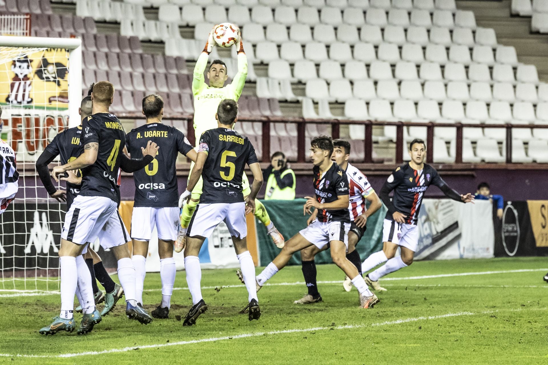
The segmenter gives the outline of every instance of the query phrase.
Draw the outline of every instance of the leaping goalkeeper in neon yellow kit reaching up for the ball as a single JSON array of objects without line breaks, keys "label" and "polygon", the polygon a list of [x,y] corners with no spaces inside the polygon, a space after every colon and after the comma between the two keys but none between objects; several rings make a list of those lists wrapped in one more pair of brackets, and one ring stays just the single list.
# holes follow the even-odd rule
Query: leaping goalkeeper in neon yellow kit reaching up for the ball
[{"label": "leaping goalkeeper in neon yellow kit reaching up for the ball", "polygon": [[[215,26],[216,27],[216,26]],[[211,53],[215,40],[213,39],[213,27],[209,33],[206,47],[204,47],[202,54],[198,57],[196,66],[194,67],[194,77],[192,79],[192,94],[194,94],[194,130],[196,134],[196,143],[200,140],[203,132],[217,128],[217,121],[215,119],[215,112],[219,106],[219,103],[223,99],[232,99],[238,101],[240,95],[242,95],[243,86],[246,83],[247,77],[247,57],[243,51],[242,38],[239,37],[239,49],[238,49],[238,73],[232,80],[232,83],[225,86],[227,76],[226,65],[221,60],[214,60],[209,66],[208,78],[209,86],[204,81],[204,71],[208,65],[209,54]],[[236,47],[238,47],[236,42]],[[191,170],[194,167],[194,163],[191,164]],[[189,174],[190,175],[190,174]],[[243,195],[244,198],[250,193],[249,181],[246,174],[242,176],[243,179]],[[179,200],[179,207],[181,210],[181,227],[179,229],[179,238],[175,243],[175,251],[180,252],[184,247],[181,235],[186,234],[186,229],[189,227],[190,219],[196,205],[199,202],[200,195],[202,194],[202,178],[200,177],[196,187],[192,190],[191,199],[184,206],[182,205],[182,196]],[[272,238],[272,241],[282,248],[284,245],[284,238],[279,231],[274,227],[274,224],[270,221],[269,214],[266,212],[266,208],[262,203],[255,199],[255,217],[259,219],[266,226],[268,234]]]}]

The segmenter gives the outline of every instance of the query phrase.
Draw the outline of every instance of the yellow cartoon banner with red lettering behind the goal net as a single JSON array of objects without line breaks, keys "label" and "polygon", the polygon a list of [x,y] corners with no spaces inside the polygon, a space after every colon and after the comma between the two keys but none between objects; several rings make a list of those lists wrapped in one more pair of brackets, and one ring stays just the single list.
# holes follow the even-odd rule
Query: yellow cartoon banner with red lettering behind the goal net
[{"label": "yellow cartoon banner with red lettering behind the goal net", "polygon": [[0,63],[1,137],[18,161],[37,154],[68,125],[68,52],[45,49]]}]

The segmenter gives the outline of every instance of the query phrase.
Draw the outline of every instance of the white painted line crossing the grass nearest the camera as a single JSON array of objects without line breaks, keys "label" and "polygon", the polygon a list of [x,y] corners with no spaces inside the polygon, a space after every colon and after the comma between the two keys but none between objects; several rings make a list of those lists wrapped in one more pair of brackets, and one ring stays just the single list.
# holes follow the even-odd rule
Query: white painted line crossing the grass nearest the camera
[{"label": "white painted line crossing the grass nearest the camera", "polygon": [[133,351],[138,349],[157,349],[158,347],[181,346],[181,345],[199,344],[199,343],[206,343],[206,342],[213,342],[213,341],[222,341],[222,340],[228,340],[228,339],[233,340],[233,339],[239,339],[239,338],[259,337],[262,335],[326,331],[330,329],[350,329],[350,328],[363,328],[363,327],[390,326],[390,325],[399,325],[401,323],[416,322],[416,321],[423,321],[423,320],[436,320],[436,319],[447,318],[447,317],[472,316],[475,314],[476,313],[472,313],[472,312],[457,312],[457,313],[447,313],[439,316],[401,318],[395,321],[371,323],[370,325],[362,324],[362,325],[345,325],[345,326],[336,326],[336,327],[295,328],[295,329],[285,329],[283,331],[243,333],[243,334],[235,334],[235,335],[224,336],[224,337],[203,338],[199,340],[178,341],[178,342],[162,343],[162,344],[155,344],[155,345],[128,346],[128,347],[123,347],[121,349],[110,349],[110,350],[103,350],[103,351],[73,352],[69,354],[60,354],[60,355],[0,354],[0,357],[71,358],[71,357],[79,357],[79,356],[87,356],[87,355],[114,354],[118,352],[128,352],[128,351]]}]

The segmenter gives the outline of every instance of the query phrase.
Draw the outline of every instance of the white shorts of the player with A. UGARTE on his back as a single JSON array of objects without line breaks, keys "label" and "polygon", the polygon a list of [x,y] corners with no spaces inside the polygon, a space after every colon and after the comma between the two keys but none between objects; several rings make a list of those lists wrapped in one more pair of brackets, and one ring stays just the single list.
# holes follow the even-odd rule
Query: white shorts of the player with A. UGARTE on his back
[{"label": "white shorts of the player with A. UGARTE on his back", "polygon": [[158,238],[175,241],[179,229],[178,207],[134,207],[132,213],[132,239],[150,241],[156,225]]}]

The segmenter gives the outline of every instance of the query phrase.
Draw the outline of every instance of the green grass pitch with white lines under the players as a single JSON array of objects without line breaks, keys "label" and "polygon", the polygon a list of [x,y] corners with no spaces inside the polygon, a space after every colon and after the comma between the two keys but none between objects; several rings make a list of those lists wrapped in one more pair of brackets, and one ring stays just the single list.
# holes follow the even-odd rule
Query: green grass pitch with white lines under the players
[{"label": "green grass pitch with white lines under the players", "polygon": [[[4,290],[0,363],[546,364],[546,261],[416,262],[381,280],[388,291],[377,293],[381,302],[372,310],[358,308],[356,289],[344,291],[344,274],[334,265],[318,265],[318,280],[326,281],[318,283],[323,303],[293,304],[306,287],[300,266],[288,266],[259,292],[262,316],[252,322],[239,313],[247,292],[235,270],[203,270],[209,311],[193,327],[176,319],[191,306],[185,273],[179,272],[168,320],[140,325],[125,317],[119,303],[83,336],[38,334],[58,314],[59,294],[14,297]],[[160,288],[159,274],[147,274],[149,312],[161,299]]]}]

